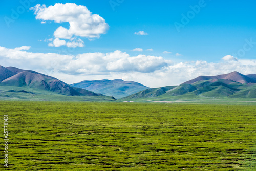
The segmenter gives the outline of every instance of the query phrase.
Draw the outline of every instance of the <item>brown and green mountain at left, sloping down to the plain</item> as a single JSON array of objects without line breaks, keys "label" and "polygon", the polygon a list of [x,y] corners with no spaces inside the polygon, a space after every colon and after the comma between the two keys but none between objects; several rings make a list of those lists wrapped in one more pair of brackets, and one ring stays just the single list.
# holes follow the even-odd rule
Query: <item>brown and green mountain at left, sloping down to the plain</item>
[{"label": "brown and green mountain at left, sloping down to the plain", "polygon": [[113,97],[72,87],[48,75],[14,67],[0,66],[0,80],[0,100],[56,100],[56,97],[60,101],[83,99],[75,96],[87,96],[88,101],[92,99],[91,96],[94,96],[94,99],[97,97],[96,101],[108,98],[115,100]]}]

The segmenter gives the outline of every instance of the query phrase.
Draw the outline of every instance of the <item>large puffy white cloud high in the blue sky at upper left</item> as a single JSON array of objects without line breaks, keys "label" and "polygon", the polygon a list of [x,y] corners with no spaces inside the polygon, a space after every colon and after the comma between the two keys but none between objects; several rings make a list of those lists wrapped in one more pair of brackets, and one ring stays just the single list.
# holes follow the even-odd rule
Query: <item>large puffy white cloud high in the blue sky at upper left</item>
[{"label": "large puffy white cloud high in the blue sky at upper left", "polygon": [[[53,20],[55,23],[69,23],[69,29],[62,26],[54,31],[55,40],[58,43],[50,43],[49,46],[66,45],[70,47],[83,47],[82,41],[69,42],[64,44],[61,39],[71,39],[74,36],[86,38],[99,38],[100,34],[105,34],[109,29],[109,25],[105,22],[104,18],[97,14],[92,14],[87,7],[76,5],[74,3],[56,3],[53,6],[47,7],[46,5],[37,4],[31,7],[34,10],[36,19],[42,20],[41,23],[46,23],[47,20]],[[65,41],[65,40],[64,40]]]}]

